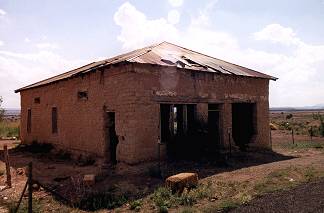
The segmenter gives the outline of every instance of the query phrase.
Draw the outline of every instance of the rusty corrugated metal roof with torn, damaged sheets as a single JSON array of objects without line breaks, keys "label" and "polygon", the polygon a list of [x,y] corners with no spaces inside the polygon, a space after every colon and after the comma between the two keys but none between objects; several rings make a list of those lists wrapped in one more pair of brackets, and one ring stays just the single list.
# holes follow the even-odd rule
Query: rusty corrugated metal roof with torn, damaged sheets
[{"label": "rusty corrugated metal roof with torn, damaged sheets", "polygon": [[[152,50],[154,49],[154,52],[156,53],[159,52],[160,54],[156,55],[156,57],[152,58]],[[155,51],[156,49],[156,51]],[[45,86],[45,85],[49,85],[51,83],[55,83],[58,81],[62,81],[65,79],[69,79],[72,77],[77,77],[79,75],[91,72],[93,70],[96,70],[97,68],[103,68],[109,65],[116,65],[116,64],[120,64],[122,62],[128,62],[128,63],[138,63],[138,64],[156,64],[156,65],[160,65],[160,66],[166,66],[165,63],[161,64],[160,62],[164,57],[164,53],[166,52],[166,54],[174,53],[179,55],[186,55],[189,54],[192,57],[198,57],[197,59],[199,59],[196,63],[201,64],[201,65],[205,65],[207,68],[213,69],[213,70],[217,70],[217,68],[210,66],[210,65],[206,65],[205,63],[201,63],[202,60],[208,60],[210,61],[212,64],[217,65],[218,67],[223,67],[224,64],[226,66],[226,70],[231,73],[228,75],[233,75],[233,76],[243,76],[243,77],[252,77],[252,78],[263,78],[263,79],[269,79],[269,80],[273,80],[276,81],[278,78],[240,66],[240,65],[236,65],[221,59],[217,59],[214,58],[212,56],[208,56],[205,55],[203,53],[199,53],[193,50],[189,50],[187,48],[175,45],[175,44],[171,44],[168,42],[162,42],[159,44],[154,44],[154,45],[150,45],[148,47],[144,47],[141,49],[137,49],[128,53],[124,53],[106,60],[101,60],[101,61],[97,61],[97,62],[92,62],[89,64],[86,64],[84,66],[81,66],[79,68],[76,69],[72,69],[68,72],[53,76],[51,78],[47,78],[44,79],[42,81],[30,84],[28,86],[19,88],[17,90],[15,90],[15,93],[21,92],[23,90],[28,90],[28,89],[32,89],[32,88],[36,88],[36,87],[40,87],[40,86]],[[158,59],[158,61],[154,60],[154,59]],[[190,58],[189,58],[190,59]],[[160,62],[159,62],[160,61]],[[194,60],[195,61],[195,60]],[[186,68],[183,68],[186,69]],[[188,68],[187,68],[188,69]],[[208,72],[208,69],[206,70],[193,70],[193,71],[202,71],[202,72]],[[219,70],[217,70],[219,71]],[[211,72],[211,71],[209,71]],[[220,71],[219,71],[220,72]]]}]

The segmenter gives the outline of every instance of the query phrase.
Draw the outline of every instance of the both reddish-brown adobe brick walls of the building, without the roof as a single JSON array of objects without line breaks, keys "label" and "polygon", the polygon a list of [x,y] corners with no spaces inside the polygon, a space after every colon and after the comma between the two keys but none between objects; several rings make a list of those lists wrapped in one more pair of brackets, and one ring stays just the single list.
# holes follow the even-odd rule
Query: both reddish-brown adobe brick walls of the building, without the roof
[{"label": "both reddish-brown adobe brick walls of the building, without the roof", "polygon": [[[88,91],[88,100],[77,92]],[[52,143],[75,153],[105,153],[104,110],[116,112],[117,159],[137,163],[157,158],[160,103],[196,103],[207,119],[208,103],[222,103],[222,139],[228,144],[231,103],[257,103],[255,145],[269,147],[268,80],[183,71],[175,67],[124,64],[21,92],[21,138],[24,143]],[[40,97],[40,104],[34,98]],[[58,133],[52,134],[51,110],[58,109]],[[27,110],[32,132],[27,134]],[[162,155],[165,153],[162,153]]]}]

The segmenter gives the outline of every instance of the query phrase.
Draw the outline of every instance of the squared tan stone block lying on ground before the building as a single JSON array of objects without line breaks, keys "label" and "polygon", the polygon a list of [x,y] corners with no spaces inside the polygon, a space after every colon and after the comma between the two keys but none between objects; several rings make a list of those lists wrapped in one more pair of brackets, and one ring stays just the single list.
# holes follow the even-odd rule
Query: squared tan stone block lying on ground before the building
[{"label": "squared tan stone block lying on ground before the building", "polygon": [[193,188],[198,185],[198,174],[197,173],[179,173],[168,177],[165,180],[166,187],[169,187],[172,192],[180,192],[184,188]]}]

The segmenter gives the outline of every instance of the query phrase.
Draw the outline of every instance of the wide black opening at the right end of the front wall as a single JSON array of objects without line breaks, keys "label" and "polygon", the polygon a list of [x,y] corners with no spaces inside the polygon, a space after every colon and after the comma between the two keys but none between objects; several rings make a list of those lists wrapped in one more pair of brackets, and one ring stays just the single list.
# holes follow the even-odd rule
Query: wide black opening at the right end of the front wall
[{"label": "wide black opening at the right end of the front wall", "polygon": [[232,134],[235,144],[245,150],[256,133],[254,103],[232,104]]}]

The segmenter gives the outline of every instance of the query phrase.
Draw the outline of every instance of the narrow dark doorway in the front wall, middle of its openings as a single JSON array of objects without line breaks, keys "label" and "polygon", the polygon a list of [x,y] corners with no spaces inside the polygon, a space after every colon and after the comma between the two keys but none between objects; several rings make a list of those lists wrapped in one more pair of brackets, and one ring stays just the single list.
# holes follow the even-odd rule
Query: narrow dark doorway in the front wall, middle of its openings
[{"label": "narrow dark doorway in the front wall, middle of its openings", "polygon": [[220,105],[208,104],[208,148],[211,153],[220,146]]}]

